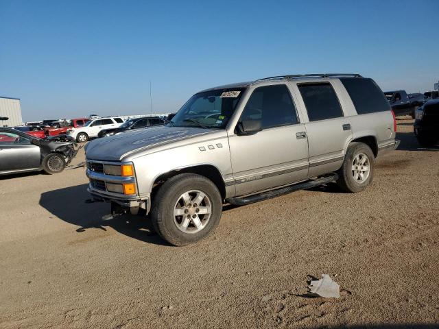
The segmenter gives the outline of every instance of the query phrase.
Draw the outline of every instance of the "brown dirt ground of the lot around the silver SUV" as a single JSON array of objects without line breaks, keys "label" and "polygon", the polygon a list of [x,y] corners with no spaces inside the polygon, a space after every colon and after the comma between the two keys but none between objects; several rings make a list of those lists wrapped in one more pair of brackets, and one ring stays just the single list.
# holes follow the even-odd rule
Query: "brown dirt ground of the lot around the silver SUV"
[{"label": "brown dirt ground of the lot around the silver SUV", "polygon": [[[363,193],[226,206],[188,247],[141,217],[102,221],[83,168],[1,178],[0,328],[438,327],[439,148],[412,122]],[[307,297],[322,273],[340,299]]]}]

